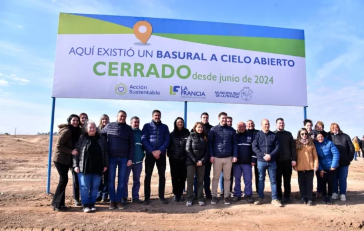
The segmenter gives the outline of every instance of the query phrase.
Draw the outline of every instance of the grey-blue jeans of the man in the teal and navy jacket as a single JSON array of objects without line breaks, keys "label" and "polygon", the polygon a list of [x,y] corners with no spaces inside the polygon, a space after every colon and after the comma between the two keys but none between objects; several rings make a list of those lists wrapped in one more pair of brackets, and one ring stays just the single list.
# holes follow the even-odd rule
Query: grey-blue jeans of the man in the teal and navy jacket
[{"label": "grey-blue jeans of the man in the teal and navy jacket", "polygon": [[139,199],[140,175],[142,174],[143,163],[132,164],[126,168],[123,198],[128,198],[128,183],[131,170],[133,171],[133,187],[131,189],[132,199]]}]

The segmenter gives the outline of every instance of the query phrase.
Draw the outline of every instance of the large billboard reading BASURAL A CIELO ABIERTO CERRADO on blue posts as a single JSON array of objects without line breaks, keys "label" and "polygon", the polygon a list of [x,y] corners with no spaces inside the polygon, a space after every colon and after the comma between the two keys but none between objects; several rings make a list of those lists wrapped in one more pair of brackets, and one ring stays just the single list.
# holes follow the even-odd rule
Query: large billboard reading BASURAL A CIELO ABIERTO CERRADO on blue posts
[{"label": "large billboard reading BASURAL A CIELO ABIERTO CERRADO on blue posts", "polygon": [[307,106],[304,31],[61,13],[52,96]]}]

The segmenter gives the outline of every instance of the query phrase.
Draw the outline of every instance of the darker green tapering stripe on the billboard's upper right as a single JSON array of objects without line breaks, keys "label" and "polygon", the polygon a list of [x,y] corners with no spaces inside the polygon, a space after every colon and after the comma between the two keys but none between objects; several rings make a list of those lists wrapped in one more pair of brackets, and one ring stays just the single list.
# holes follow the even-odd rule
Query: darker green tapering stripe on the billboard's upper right
[{"label": "darker green tapering stripe on the billboard's upper right", "polygon": [[230,47],[244,49],[248,51],[261,51],[282,55],[305,57],[305,40],[300,39],[164,33],[153,33],[153,35],[194,43],[216,45],[219,47]]}]

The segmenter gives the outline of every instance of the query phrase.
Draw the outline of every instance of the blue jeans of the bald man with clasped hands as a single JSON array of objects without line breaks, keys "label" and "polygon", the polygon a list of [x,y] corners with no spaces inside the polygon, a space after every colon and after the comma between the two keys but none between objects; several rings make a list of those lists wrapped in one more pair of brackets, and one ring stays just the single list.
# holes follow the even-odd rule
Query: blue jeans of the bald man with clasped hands
[{"label": "blue jeans of the bald man with clasped hands", "polygon": [[258,160],[258,172],[259,172],[259,189],[258,195],[260,198],[264,198],[264,181],[266,170],[268,170],[270,189],[272,190],[272,200],[277,200],[277,163],[275,161],[265,162]]}]

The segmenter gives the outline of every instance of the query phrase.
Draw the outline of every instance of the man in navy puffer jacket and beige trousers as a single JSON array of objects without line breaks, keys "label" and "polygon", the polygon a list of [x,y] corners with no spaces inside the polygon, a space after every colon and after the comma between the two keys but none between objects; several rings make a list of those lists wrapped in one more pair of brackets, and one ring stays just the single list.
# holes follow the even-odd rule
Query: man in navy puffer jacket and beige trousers
[{"label": "man in navy puffer jacket and beige trousers", "polygon": [[224,203],[230,204],[230,172],[233,165],[233,156],[238,156],[236,131],[226,124],[227,114],[219,114],[219,124],[209,133],[210,162],[213,163],[214,177],[212,179],[211,204],[217,203],[217,186],[221,171],[224,176]]}]

